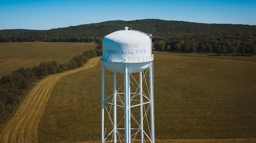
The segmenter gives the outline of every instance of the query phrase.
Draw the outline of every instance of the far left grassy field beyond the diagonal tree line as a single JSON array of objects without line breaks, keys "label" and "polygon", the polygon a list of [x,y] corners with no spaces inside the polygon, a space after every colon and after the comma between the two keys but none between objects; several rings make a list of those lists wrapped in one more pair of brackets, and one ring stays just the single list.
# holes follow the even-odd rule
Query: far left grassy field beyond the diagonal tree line
[{"label": "far left grassy field beyond the diagonal tree line", "polygon": [[33,67],[41,62],[66,63],[84,50],[95,48],[94,43],[11,42],[0,43],[0,77],[20,67]]}]

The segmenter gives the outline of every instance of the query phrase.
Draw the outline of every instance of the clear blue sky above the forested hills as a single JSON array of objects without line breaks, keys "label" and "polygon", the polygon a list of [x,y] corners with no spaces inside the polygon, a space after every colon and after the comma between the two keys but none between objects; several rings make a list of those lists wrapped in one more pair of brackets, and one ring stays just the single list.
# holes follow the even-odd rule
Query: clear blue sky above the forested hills
[{"label": "clear blue sky above the forested hills", "polygon": [[254,1],[2,1],[0,30],[49,30],[108,20],[164,19],[256,25]]}]

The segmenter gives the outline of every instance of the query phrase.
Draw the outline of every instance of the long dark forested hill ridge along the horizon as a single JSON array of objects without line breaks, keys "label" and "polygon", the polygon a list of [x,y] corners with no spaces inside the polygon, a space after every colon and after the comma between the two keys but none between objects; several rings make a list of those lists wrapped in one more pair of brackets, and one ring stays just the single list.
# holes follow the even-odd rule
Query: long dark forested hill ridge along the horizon
[{"label": "long dark forested hill ridge along the horizon", "polygon": [[193,35],[256,35],[256,26],[240,24],[205,24],[184,21],[167,21],[159,19],[143,19],[133,21],[105,21],[100,23],[83,24],[56,28],[45,31],[28,30],[1,30],[0,42],[21,41],[65,41],[65,42],[89,42],[98,41],[103,36],[117,30],[123,30],[124,26],[130,26],[135,30],[153,34],[156,37],[172,38],[187,37]]}]

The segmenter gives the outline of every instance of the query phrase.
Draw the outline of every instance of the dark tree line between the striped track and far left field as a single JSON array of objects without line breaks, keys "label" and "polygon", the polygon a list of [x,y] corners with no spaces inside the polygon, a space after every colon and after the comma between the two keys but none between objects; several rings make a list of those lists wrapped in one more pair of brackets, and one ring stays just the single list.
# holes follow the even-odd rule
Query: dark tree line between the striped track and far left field
[{"label": "dark tree line between the striped track and far left field", "polygon": [[56,61],[40,63],[32,68],[19,68],[0,79],[0,125],[10,116],[24,95],[39,80],[49,74],[61,73],[81,67],[90,58],[101,55],[98,45],[95,49],[84,51],[81,55],[74,56],[65,64]]}]

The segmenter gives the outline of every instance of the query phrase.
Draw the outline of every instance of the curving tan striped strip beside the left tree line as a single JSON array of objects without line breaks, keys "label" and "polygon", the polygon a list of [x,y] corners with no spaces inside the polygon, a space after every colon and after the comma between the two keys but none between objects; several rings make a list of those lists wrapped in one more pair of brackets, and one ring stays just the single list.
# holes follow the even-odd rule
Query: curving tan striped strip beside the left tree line
[{"label": "curving tan striped strip beside the left tree line", "polygon": [[3,125],[0,142],[38,142],[37,129],[40,118],[56,82],[69,74],[96,66],[99,58],[90,59],[83,67],[51,75],[42,79],[14,112],[12,118]]}]

